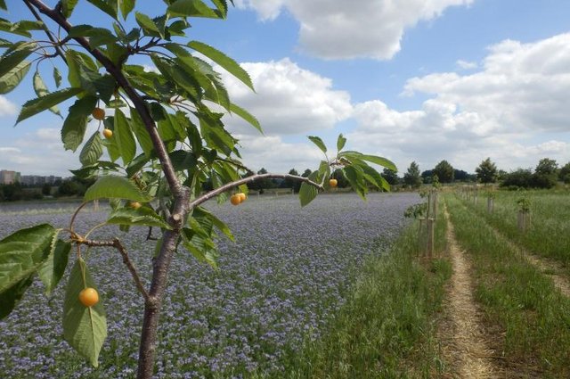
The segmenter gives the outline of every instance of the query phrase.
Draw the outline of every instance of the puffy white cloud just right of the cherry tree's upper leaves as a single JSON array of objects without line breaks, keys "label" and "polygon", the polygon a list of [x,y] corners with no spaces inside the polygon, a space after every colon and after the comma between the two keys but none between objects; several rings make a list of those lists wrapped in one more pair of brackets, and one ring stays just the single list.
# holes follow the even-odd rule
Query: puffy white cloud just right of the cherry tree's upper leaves
[{"label": "puffy white cloud just right of the cherry tree's upper leaves", "polygon": [[[330,78],[301,69],[287,58],[241,66],[251,76],[256,93],[227,74],[224,82],[232,102],[254,114],[266,135],[334,128],[352,112],[350,95],[332,89]],[[258,135],[256,129],[237,116],[228,117],[225,122],[233,131]]]}]

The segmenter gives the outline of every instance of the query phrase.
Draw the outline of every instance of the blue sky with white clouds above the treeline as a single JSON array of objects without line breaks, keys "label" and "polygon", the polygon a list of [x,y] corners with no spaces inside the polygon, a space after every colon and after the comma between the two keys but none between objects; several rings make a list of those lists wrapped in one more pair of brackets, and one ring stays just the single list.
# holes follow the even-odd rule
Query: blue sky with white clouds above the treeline
[{"label": "blue sky with white clouds above the treeline", "polygon": [[[31,19],[24,5],[7,3],[0,17]],[[322,153],[306,136],[335,150],[339,133],[348,149],[394,161],[400,176],[411,161],[422,171],[446,160],[468,172],[487,157],[506,171],[545,157],[570,161],[567,0],[234,3],[226,21],[191,21],[189,34],[253,79],[255,93],[220,69],[232,102],[264,128],[261,135],[224,117],[251,169],[316,169]],[[144,4],[142,12],[157,16],[163,3]],[[70,20],[90,21],[105,25],[91,4]],[[50,68],[40,72],[53,90]],[[80,163],[78,151],[63,151],[60,118],[44,112],[13,127],[35,97],[32,74],[0,95],[0,169],[67,177]]]}]

